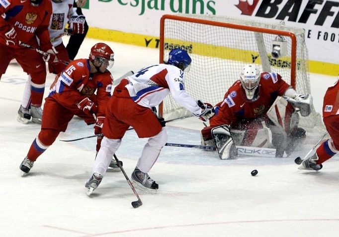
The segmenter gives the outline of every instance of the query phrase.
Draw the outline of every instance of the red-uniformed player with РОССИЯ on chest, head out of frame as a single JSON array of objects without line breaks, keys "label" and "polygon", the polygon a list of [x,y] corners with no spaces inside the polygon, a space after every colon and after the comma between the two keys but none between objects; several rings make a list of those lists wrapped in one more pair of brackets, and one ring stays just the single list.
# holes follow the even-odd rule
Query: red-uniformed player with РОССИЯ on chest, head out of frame
[{"label": "red-uniformed player with \u0420\u041e\u0421\u0421\u0418\u042f on chest, head out of frame", "polygon": [[[48,33],[52,13],[50,0],[1,0],[0,1],[0,78],[15,58],[24,72],[32,78],[32,117],[39,114],[45,90],[45,61],[57,60]],[[21,46],[20,42],[53,54],[45,57],[35,50]]]}]

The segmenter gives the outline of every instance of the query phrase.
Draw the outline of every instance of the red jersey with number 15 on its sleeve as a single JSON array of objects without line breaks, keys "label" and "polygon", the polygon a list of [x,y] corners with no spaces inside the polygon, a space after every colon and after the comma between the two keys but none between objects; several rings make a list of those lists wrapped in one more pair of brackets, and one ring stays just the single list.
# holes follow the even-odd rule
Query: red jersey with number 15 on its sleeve
[{"label": "red jersey with number 15 on its sleeve", "polygon": [[66,108],[74,107],[88,97],[98,107],[96,116],[105,116],[106,104],[111,96],[113,77],[109,71],[90,73],[89,70],[88,59],[72,61],[52,85],[48,97],[53,96]]}]

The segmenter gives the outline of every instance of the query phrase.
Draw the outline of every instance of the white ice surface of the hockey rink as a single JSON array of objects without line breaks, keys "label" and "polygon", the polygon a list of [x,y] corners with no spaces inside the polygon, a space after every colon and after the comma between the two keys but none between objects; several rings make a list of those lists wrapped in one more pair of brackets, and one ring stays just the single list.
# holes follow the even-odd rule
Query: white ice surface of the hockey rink
[{"label": "white ice surface of the hockey rink", "polygon": [[[77,58],[87,57],[96,42],[85,39]],[[115,52],[115,78],[159,62],[158,49],[106,43]],[[46,88],[53,78],[48,75]],[[160,188],[153,194],[137,190],[143,205],[134,209],[131,202],[137,198],[121,172],[106,173],[93,195],[86,196],[96,139],[59,141],[93,134],[92,126],[75,118],[23,177],[19,164],[40,130],[38,124],[16,121],[26,80],[12,64],[0,81],[1,237],[338,236],[339,159],[327,161],[319,172],[298,170],[294,158],[313,146],[307,141],[289,158],[236,160],[165,146],[149,173]],[[311,74],[318,112],[335,81]],[[200,144],[202,127],[195,118],[169,122],[168,142]],[[146,141],[128,131],[116,153],[129,177]],[[251,176],[254,169],[258,174]]]}]

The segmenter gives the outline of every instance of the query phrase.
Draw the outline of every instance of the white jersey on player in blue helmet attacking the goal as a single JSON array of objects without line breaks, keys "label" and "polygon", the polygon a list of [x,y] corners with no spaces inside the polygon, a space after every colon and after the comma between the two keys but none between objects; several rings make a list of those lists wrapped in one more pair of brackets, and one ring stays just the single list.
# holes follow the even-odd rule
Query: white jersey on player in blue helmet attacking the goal
[{"label": "white jersey on player in blue helmet attacking the goal", "polygon": [[140,106],[158,106],[170,93],[178,104],[193,114],[200,115],[202,112],[196,101],[185,91],[183,72],[173,65],[156,64],[145,67],[127,79],[129,95]]}]

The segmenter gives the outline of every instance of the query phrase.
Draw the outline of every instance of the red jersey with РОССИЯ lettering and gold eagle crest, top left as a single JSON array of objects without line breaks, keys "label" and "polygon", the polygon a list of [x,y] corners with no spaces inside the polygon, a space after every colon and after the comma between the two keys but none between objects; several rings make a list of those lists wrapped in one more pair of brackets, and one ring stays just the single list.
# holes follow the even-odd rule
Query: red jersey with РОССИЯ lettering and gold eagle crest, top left
[{"label": "red jersey with \u0420\u041e\u0421\u0421\u0418\u042f lettering and gold eagle crest, top left", "polygon": [[0,14],[1,44],[7,42],[10,47],[21,47],[6,41],[8,38],[4,34],[14,27],[17,40],[37,47],[35,36],[38,36],[43,51],[52,48],[48,33],[52,14],[50,0],[43,0],[39,6],[33,6],[30,0],[0,0]]}]

